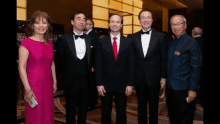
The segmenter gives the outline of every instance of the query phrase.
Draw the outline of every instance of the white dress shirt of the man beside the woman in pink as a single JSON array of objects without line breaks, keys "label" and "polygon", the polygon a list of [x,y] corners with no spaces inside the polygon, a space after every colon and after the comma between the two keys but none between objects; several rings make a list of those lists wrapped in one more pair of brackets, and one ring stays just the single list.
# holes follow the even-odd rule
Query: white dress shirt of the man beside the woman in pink
[{"label": "white dress shirt of the man beside the woman in pink", "polygon": [[[73,32],[75,35],[78,35],[75,31]],[[81,60],[86,54],[86,43],[85,39],[81,39],[80,37],[75,39],[75,35],[73,35],[73,38],[75,41],[76,56]],[[81,32],[79,35],[83,35],[83,32]]]}]

